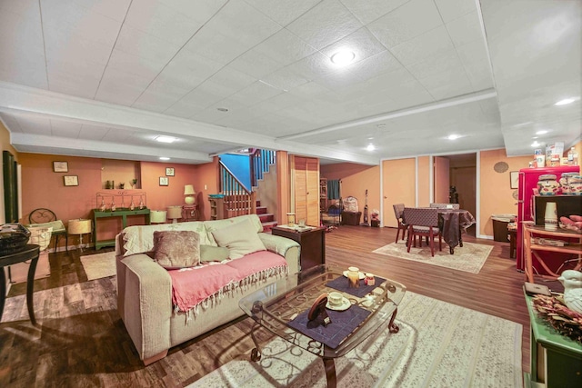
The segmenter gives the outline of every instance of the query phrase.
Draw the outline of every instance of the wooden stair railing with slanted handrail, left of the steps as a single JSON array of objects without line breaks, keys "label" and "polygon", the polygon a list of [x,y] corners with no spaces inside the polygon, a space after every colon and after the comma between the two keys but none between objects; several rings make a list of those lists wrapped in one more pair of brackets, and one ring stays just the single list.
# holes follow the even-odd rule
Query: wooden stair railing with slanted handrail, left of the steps
[{"label": "wooden stair railing with slanted handrail, left of the steps", "polygon": [[249,191],[222,162],[218,162],[218,174],[220,193],[225,194],[226,218],[256,214],[256,194]]}]

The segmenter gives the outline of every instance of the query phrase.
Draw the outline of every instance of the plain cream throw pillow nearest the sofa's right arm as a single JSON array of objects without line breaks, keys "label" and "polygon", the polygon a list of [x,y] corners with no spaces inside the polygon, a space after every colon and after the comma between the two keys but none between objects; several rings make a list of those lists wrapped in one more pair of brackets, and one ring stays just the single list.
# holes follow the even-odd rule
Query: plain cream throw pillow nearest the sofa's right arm
[{"label": "plain cream throw pillow nearest the sofa's right arm", "polygon": [[238,259],[257,251],[266,251],[265,244],[256,234],[255,226],[248,220],[213,231],[212,235],[218,246],[228,248],[231,259]]}]

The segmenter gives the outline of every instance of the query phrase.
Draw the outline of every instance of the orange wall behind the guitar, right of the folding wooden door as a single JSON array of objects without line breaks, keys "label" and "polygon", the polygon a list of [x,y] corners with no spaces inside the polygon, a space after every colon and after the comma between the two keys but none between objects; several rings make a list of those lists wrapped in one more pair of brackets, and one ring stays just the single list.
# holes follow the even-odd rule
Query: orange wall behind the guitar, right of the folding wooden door
[{"label": "orange wall behind the guitar, right of the folding wooden door", "polygon": [[357,205],[362,212],[361,222],[364,222],[366,189],[368,215],[372,214],[373,209],[380,211],[380,166],[340,163],[324,164],[319,169],[322,178],[341,180],[342,198],[350,195],[356,197]]}]

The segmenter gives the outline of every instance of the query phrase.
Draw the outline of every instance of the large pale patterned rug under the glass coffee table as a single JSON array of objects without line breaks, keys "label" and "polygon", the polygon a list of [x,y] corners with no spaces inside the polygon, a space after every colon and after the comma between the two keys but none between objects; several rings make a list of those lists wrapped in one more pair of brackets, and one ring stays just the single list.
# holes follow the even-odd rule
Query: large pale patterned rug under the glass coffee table
[{"label": "large pale patterned rug under the glass coffee table", "polygon": [[[521,324],[406,293],[396,323],[336,359],[338,387],[518,387],[522,385]],[[262,359],[236,358],[189,385],[326,387],[322,361],[281,339]]]}]

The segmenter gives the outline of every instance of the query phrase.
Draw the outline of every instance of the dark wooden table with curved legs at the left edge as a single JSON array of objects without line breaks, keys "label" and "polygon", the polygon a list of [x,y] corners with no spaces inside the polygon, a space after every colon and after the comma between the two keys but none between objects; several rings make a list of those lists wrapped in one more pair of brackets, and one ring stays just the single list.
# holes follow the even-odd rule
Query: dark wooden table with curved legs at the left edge
[{"label": "dark wooden table with curved legs at the left edge", "polygon": [[30,317],[30,322],[36,324],[33,293],[35,292],[35,271],[39,254],[39,245],[28,244],[26,245],[25,249],[20,252],[0,256],[0,268],[2,268],[2,274],[0,274],[0,320],[2,319],[2,314],[4,313],[4,303],[6,300],[6,277],[4,274],[4,267],[6,265],[22,263],[26,260],[30,260],[31,262],[30,267],[28,268],[28,277],[26,278],[26,307],[28,307],[28,316]]}]

